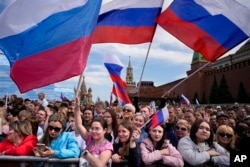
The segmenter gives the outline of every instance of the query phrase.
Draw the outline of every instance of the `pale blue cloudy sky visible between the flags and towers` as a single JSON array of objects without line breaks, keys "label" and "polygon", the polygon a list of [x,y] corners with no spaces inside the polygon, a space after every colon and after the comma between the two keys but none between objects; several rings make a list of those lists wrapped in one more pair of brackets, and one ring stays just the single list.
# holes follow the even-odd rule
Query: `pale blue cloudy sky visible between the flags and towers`
[{"label": "pale blue cloudy sky visible between the flags and towers", "polygon": [[[2,4],[0,2],[0,10],[4,6],[3,3],[7,1],[8,0],[2,1]],[[103,2],[106,3],[108,1],[110,0],[104,0]],[[237,1],[250,8],[249,0]],[[172,0],[165,0],[164,9],[171,2]],[[245,43],[245,41],[243,43]],[[243,43],[225,55],[234,53],[243,45]],[[92,45],[84,76],[87,89],[91,87],[93,90],[93,100],[95,101],[97,97],[100,97],[101,100],[109,100],[110,98],[112,82],[103,65],[104,55],[115,54],[120,58],[125,66],[122,70],[123,79],[125,79],[126,67],[130,56],[134,70],[134,80],[135,82],[139,82],[148,49],[149,43],[141,45]],[[193,51],[190,48],[158,26],[149,50],[149,56],[142,76],[142,81],[154,81],[155,86],[159,86],[186,77],[186,71],[190,69],[192,55]],[[8,62],[5,57],[0,54],[0,65],[1,64],[8,64]],[[64,82],[56,83],[56,91],[71,92],[73,97],[73,89],[77,86],[78,79],[79,76],[73,77]]]}]

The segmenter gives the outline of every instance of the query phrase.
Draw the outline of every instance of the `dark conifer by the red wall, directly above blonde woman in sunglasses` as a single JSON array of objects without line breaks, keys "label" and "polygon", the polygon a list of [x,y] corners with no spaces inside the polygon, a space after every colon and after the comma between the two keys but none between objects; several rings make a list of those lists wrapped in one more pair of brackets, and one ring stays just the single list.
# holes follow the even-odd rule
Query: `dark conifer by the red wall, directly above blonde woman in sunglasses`
[{"label": "dark conifer by the red wall, directly above blonde woman in sunglasses", "polygon": [[219,95],[219,99],[218,99],[219,103],[233,103],[234,102],[234,98],[231,95],[231,92],[229,90],[229,86],[227,84],[227,80],[224,74],[222,75],[222,78],[220,81],[220,85],[218,88],[218,95]]}]

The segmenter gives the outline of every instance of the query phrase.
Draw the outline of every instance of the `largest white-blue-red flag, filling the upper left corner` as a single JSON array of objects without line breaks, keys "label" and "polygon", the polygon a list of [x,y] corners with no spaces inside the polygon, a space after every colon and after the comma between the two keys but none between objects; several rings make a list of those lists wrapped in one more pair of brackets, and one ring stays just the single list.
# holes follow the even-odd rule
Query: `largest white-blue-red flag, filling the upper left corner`
[{"label": "largest white-blue-red flag, filling the upper left corner", "polygon": [[0,50],[26,92],[82,73],[100,0],[18,0],[0,14]]}]

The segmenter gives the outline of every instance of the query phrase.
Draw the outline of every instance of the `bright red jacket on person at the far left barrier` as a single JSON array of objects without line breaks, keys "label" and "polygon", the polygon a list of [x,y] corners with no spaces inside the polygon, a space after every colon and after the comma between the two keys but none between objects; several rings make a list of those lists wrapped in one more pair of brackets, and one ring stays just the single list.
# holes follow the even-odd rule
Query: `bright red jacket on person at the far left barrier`
[{"label": "bright red jacket on person at the far left barrier", "polygon": [[5,155],[34,155],[33,149],[36,146],[38,140],[34,135],[29,135],[24,138],[22,143],[18,146],[14,146],[7,138],[0,143],[0,153],[5,151]]}]

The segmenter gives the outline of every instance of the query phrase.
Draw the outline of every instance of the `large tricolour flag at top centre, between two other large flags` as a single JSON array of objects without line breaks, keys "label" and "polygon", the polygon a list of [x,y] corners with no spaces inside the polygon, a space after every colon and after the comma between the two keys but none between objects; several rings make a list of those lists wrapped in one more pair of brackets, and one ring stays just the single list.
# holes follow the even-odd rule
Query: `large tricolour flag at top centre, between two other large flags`
[{"label": "large tricolour flag at top centre, between two other large flags", "polygon": [[115,0],[102,5],[93,43],[151,42],[163,0]]}]

